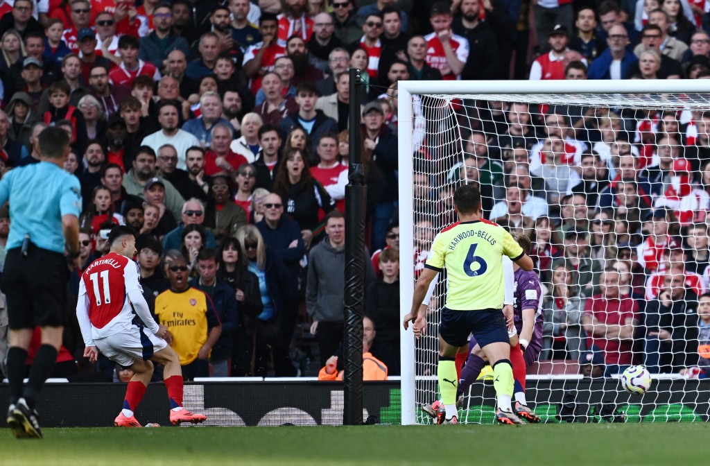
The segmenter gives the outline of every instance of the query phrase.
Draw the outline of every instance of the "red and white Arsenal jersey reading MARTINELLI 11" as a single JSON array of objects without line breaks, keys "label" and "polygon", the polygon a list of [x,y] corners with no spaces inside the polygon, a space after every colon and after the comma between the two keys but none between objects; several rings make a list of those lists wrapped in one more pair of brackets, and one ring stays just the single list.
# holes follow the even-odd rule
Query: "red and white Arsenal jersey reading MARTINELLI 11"
[{"label": "red and white Arsenal jersey reading MARTINELLI 11", "polygon": [[128,293],[143,292],[139,277],[138,264],[113,252],[93,261],[82,273],[79,299],[87,295],[94,340],[131,328],[135,314]]}]

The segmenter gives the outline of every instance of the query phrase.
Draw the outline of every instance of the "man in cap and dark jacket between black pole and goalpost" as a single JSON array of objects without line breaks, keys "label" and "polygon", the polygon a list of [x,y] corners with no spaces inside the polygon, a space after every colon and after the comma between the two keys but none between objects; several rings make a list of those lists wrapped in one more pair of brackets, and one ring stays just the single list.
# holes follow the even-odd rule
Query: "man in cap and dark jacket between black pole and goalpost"
[{"label": "man in cap and dark jacket between black pole and goalpost", "polygon": [[372,217],[372,247],[381,249],[386,246],[387,227],[396,215],[395,203],[399,195],[397,190],[398,157],[397,136],[385,124],[385,113],[377,102],[368,102],[362,112],[365,131],[363,131],[363,149],[371,153],[383,176],[383,186],[375,200]]}]

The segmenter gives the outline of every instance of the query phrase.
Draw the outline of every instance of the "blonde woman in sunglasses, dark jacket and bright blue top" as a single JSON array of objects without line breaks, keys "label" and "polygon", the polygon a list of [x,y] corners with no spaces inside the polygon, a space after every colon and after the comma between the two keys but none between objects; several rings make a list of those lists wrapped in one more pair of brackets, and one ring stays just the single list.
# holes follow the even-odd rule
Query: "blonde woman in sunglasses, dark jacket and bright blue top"
[{"label": "blonde woman in sunglasses, dark jacket and bright blue top", "polygon": [[247,270],[256,275],[261,292],[263,310],[256,316],[256,345],[254,347],[255,376],[266,376],[268,362],[273,356],[274,376],[294,376],[295,367],[288,356],[292,335],[283,335],[282,317],[285,300],[295,295],[297,277],[289,276],[288,269],[266,247],[261,233],[254,225],[244,225],[234,235],[241,248],[241,256],[248,259]]}]

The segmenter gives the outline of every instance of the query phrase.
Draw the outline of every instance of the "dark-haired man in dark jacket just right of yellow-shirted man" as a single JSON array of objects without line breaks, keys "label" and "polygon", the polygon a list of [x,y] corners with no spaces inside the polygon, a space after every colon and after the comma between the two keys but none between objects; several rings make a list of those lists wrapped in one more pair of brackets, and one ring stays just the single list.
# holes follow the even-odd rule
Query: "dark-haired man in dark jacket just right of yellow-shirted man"
[{"label": "dark-haired man in dark jacket just right of yellow-shirted man", "polygon": [[214,343],[209,356],[210,372],[214,377],[229,377],[231,352],[234,332],[239,325],[239,312],[234,288],[217,278],[219,261],[213,249],[202,249],[197,254],[197,272],[199,278],[190,282],[190,286],[203,291],[212,299],[214,310],[222,323],[222,333]]}]

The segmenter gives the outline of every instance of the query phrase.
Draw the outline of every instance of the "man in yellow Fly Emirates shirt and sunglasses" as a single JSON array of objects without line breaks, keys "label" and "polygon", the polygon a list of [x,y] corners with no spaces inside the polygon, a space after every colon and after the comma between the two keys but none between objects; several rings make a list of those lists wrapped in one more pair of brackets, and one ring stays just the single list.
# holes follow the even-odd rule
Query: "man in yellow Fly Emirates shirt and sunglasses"
[{"label": "man in yellow Fly Emirates shirt and sunglasses", "polygon": [[[170,289],[155,298],[155,317],[173,335],[170,346],[180,356],[182,377],[207,377],[209,355],[222,334],[222,323],[212,300],[190,286],[185,259],[178,256],[170,262],[168,278]],[[182,318],[174,318],[175,313]]]}]

